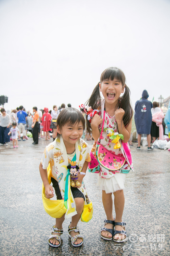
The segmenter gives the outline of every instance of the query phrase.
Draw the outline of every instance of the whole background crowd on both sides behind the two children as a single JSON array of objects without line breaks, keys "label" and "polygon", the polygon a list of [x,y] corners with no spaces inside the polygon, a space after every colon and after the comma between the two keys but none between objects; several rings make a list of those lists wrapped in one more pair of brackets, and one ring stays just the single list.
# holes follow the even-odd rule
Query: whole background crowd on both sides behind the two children
[{"label": "whole background crowd on both sides behind the two children", "polygon": [[[141,149],[142,134],[146,134],[147,136],[148,150],[153,150],[151,143],[154,143],[156,139],[163,139],[163,136],[165,134],[168,135],[170,132],[170,129],[168,128],[170,120],[167,120],[169,118],[168,113],[170,111],[170,103],[165,118],[165,124],[165,115],[159,107],[159,103],[156,101],[152,103],[148,100],[148,97],[147,90],[144,90],[141,99],[135,103],[129,145],[130,147],[133,146],[132,136],[136,133],[138,142],[137,150]],[[71,104],[68,103],[67,107],[70,108]],[[10,140],[12,140],[13,146],[18,147],[18,141],[26,141],[28,139],[28,134],[33,138],[33,144],[38,144],[38,140],[43,138],[45,138],[45,140],[50,140],[52,137],[54,141],[57,134],[57,117],[65,108],[66,105],[64,103],[58,108],[57,105],[53,105],[53,109],[50,111],[48,108],[38,110],[36,106],[33,107],[32,112],[30,110],[26,111],[21,105],[16,109],[11,110],[11,113],[6,113],[5,109],[1,108],[0,144],[8,145]],[[89,133],[84,132],[83,136],[86,140],[92,140],[91,134]]]}]

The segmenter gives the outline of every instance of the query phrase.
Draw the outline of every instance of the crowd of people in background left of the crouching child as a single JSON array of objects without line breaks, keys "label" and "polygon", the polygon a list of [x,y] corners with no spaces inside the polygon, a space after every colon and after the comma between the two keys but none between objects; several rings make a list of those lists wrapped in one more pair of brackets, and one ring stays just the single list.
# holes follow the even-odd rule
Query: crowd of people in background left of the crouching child
[{"label": "crowd of people in background left of the crouching child", "polygon": [[[69,103],[68,108],[71,107]],[[65,109],[63,103],[59,108],[53,106],[53,110],[48,108],[37,109],[33,107],[32,112],[26,111],[21,105],[9,113],[4,108],[0,110],[0,144],[8,145],[10,140],[13,141],[13,147],[18,147],[18,141],[26,141],[29,136],[33,138],[32,144],[38,144],[38,140],[45,138],[50,140],[52,134],[53,140],[56,138],[56,120],[60,112]],[[7,111],[8,112],[8,111]]]}]

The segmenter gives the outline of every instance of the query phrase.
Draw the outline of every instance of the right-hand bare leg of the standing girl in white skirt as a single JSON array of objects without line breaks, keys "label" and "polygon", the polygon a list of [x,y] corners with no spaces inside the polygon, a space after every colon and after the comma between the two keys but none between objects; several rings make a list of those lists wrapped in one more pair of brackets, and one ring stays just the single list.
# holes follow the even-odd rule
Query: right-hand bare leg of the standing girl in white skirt
[{"label": "right-hand bare leg of the standing girl in white skirt", "polygon": [[[123,215],[123,209],[124,209],[124,193],[123,190],[117,190],[113,193],[115,196],[114,204],[115,204],[115,222],[122,222],[122,215]],[[123,230],[122,226],[116,225],[115,230]],[[114,236],[115,239],[124,239],[124,234],[116,234]]]}]

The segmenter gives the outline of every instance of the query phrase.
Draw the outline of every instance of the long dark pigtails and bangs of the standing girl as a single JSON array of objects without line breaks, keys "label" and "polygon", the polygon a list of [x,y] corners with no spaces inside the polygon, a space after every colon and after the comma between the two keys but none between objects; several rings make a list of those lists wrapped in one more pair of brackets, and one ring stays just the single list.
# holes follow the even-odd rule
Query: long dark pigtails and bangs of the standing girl
[{"label": "long dark pigtails and bangs of the standing girl", "polygon": [[[117,108],[122,108],[125,113],[123,116],[123,124],[126,127],[132,116],[133,116],[133,108],[131,106],[131,101],[130,101],[130,89],[129,87],[125,84],[126,78],[122,70],[116,68],[116,67],[111,67],[105,69],[100,77],[100,82],[96,85],[95,89],[93,90],[90,98],[88,101],[85,103],[86,105],[90,105],[92,109],[101,109],[101,96],[100,96],[100,89],[99,89],[99,84],[102,84],[104,80],[114,80],[117,79],[121,82],[122,86],[125,88],[124,94],[122,97],[119,98],[118,103],[116,105]],[[115,109],[116,109],[115,107]],[[87,116],[86,116],[87,119]],[[87,132],[91,133],[91,125],[90,122],[86,122],[87,124]]]}]

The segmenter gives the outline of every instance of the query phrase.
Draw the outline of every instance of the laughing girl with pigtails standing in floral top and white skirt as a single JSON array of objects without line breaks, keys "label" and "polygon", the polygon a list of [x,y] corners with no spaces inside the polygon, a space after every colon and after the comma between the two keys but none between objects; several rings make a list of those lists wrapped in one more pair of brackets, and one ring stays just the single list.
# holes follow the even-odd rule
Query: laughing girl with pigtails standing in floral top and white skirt
[{"label": "laughing girl with pigtails standing in floral top and white skirt", "polygon": [[[104,99],[100,97],[100,92]],[[124,94],[121,96],[122,93]],[[126,223],[122,221],[123,189],[126,174],[133,168],[128,144],[133,109],[130,103],[130,90],[125,84],[122,70],[115,67],[104,70],[87,105],[93,110],[99,110],[90,122],[87,121],[87,132],[92,133],[95,140],[90,154],[89,171],[98,172],[98,185],[102,189],[102,201],[107,217],[104,221],[105,226],[101,229],[101,237],[105,240],[124,242],[127,237]],[[86,114],[89,120],[88,113]]]}]

